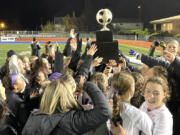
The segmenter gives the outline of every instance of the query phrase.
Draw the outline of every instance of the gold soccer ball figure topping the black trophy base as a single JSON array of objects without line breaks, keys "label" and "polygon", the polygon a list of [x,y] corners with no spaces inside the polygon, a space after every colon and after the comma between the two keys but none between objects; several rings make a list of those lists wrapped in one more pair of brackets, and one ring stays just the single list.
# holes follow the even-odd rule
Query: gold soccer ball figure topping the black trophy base
[{"label": "gold soccer ball figure topping the black trophy base", "polygon": [[96,14],[96,20],[99,24],[103,25],[101,31],[109,31],[107,25],[112,21],[112,13],[109,9],[101,9]]}]

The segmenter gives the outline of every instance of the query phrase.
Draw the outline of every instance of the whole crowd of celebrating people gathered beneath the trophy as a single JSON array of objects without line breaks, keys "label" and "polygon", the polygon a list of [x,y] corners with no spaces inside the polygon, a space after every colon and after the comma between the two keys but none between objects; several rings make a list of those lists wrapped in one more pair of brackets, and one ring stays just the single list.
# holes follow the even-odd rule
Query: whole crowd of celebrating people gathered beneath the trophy
[{"label": "whole crowd of celebrating people gathered beneath the trophy", "polygon": [[[0,69],[0,135],[178,135],[180,45],[170,40],[162,56],[119,50],[119,61],[94,57],[97,46],[71,30],[63,52],[36,38],[32,54],[7,52]],[[154,48],[154,49],[152,49]]]}]

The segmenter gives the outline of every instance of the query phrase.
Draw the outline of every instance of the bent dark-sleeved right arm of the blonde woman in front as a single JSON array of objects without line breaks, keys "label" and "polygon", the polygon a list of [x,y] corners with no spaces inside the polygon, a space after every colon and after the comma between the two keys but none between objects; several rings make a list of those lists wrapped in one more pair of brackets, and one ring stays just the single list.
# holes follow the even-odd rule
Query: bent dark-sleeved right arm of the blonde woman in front
[{"label": "bent dark-sleeved right arm of the blonde woman in front", "polygon": [[78,134],[85,133],[105,123],[111,117],[112,110],[100,89],[93,83],[86,83],[84,90],[94,103],[94,109],[76,111],[73,115],[71,127]]}]

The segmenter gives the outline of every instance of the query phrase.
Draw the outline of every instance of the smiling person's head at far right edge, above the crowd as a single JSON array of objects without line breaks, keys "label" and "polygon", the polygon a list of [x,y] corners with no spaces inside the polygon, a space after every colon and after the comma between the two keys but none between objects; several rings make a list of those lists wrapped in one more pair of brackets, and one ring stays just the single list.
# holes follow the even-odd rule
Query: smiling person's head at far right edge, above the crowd
[{"label": "smiling person's head at far right edge, above the crowd", "polygon": [[177,55],[179,51],[179,42],[177,40],[170,40],[167,42],[166,49],[168,52]]}]

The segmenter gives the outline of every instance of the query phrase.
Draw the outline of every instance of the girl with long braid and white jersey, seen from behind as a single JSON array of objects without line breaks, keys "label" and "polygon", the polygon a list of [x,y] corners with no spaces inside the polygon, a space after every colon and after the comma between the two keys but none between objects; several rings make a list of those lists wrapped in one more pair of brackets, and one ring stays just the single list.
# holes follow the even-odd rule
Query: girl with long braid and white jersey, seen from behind
[{"label": "girl with long braid and white jersey, seen from behind", "polygon": [[152,135],[152,120],[146,113],[130,104],[135,90],[132,75],[122,71],[114,74],[111,86],[115,92],[113,96],[113,125],[121,123],[126,135],[139,135],[140,133]]}]

